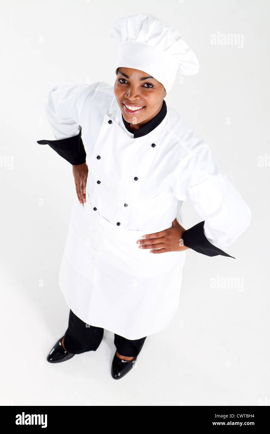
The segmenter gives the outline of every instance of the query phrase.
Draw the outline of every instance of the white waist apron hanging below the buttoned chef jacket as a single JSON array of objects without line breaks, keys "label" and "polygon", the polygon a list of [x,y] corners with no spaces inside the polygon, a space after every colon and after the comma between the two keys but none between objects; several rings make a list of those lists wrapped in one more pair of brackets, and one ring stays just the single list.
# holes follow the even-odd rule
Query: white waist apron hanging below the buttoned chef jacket
[{"label": "white waist apron hanging below the buttoned chef jacket", "polygon": [[[163,228],[160,228],[162,230]],[[80,319],[127,339],[162,330],[179,305],[185,251],[150,253],[145,231],[114,226],[75,198],[59,285]]]}]

